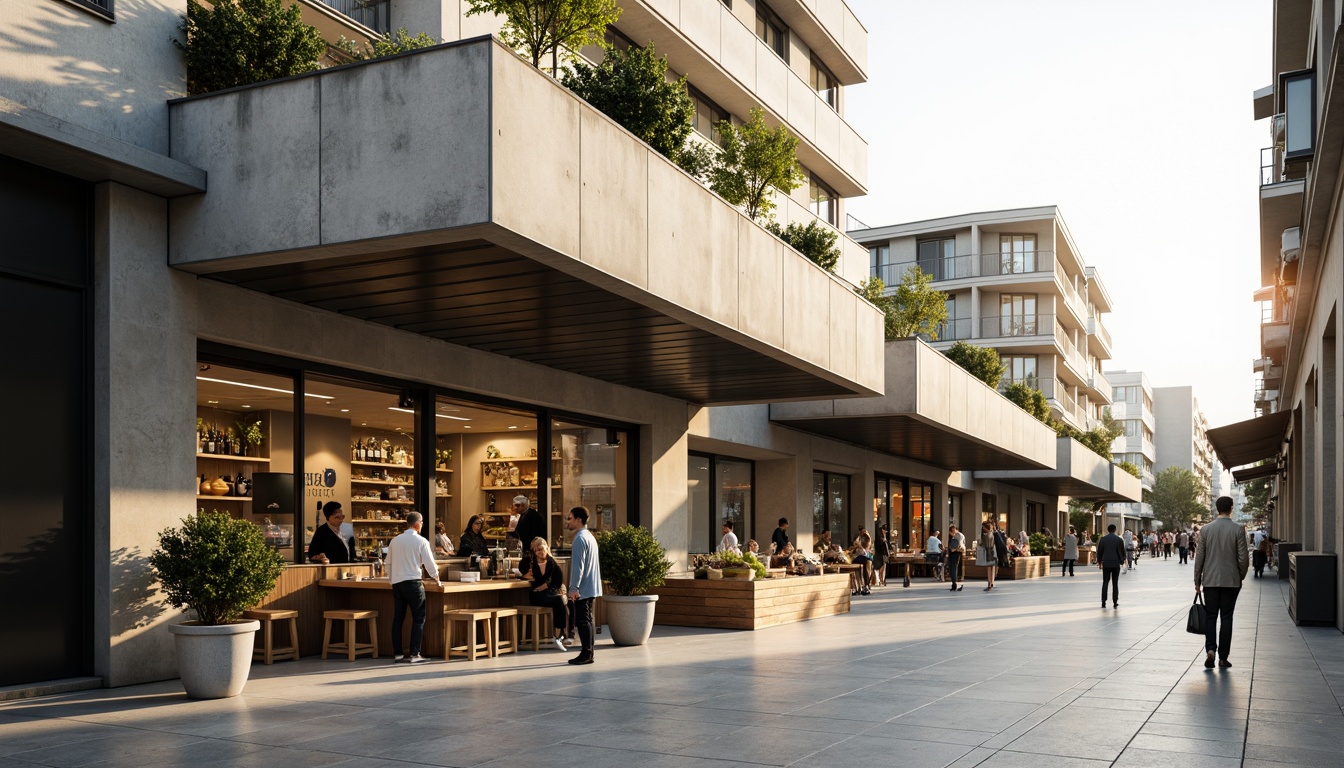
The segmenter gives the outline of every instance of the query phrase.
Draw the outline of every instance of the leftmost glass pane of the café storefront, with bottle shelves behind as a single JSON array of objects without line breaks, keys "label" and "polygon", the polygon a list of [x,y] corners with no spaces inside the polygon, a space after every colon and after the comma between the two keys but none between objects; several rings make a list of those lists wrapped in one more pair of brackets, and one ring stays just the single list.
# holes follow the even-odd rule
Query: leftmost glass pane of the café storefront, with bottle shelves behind
[{"label": "leftmost glass pane of the caf\u00e9 storefront, with bottle shelves behind", "polygon": [[293,422],[293,377],[198,362],[196,507],[257,523],[289,562],[304,542]]}]

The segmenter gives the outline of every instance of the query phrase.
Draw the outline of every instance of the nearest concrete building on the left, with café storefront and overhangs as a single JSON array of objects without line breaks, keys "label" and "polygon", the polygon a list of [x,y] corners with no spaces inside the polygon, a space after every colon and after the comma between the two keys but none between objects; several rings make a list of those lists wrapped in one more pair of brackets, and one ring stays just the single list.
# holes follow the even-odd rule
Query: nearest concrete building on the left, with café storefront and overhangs
[{"label": "nearest concrete building on the left, with caf\u00e9 storefront and overhangs", "polygon": [[[0,629],[0,685],[175,677],[146,557],[199,508],[265,522],[304,569],[314,500],[375,551],[395,504],[503,530],[523,492],[562,546],[583,503],[684,566],[728,519],[767,539],[796,518],[804,547],[888,523],[918,546],[1058,521],[1079,488],[1133,496],[926,343],[884,342],[853,289],[863,246],[820,269],[465,3],[359,22],[298,1],[449,42],[181,98],[184,0],[7,7],[0,307],[26,330],[8,356],[36,364],[7,379],[28,447],[0,608],[26,620]],[[800,136],[814,182],[784,221],[839,221],[867,163],[843,118],[867,31],[844,3],[621,5],[612,38],[652,42],[707,114],[758,106]],[[224,476],[251,495],[206,491]]]}]

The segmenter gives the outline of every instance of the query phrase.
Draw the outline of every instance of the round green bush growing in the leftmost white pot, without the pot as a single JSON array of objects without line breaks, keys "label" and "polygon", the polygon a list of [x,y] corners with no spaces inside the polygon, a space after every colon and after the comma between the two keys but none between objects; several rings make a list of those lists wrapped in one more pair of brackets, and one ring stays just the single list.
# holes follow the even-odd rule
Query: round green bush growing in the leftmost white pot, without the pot
[{"label": "round green bush growing in the leftmost white pot, without the pot", "polygon": [[276,588],[285,561],[254,523],[215,511],[161,531],[149,565],[168,603],[202,624],[227,624]]}]

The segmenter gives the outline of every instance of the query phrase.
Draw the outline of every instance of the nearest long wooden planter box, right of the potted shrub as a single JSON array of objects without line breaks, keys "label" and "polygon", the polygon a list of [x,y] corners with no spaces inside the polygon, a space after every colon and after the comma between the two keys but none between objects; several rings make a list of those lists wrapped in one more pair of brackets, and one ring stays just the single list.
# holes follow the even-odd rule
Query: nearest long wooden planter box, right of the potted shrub
[{"label": "nearest long wooden planter box, right of the potted shrub", "polygon": [[761,629],[849,612],[849,577],[843,573],[757,581],[668,578],[653,590],[655,624]]}]

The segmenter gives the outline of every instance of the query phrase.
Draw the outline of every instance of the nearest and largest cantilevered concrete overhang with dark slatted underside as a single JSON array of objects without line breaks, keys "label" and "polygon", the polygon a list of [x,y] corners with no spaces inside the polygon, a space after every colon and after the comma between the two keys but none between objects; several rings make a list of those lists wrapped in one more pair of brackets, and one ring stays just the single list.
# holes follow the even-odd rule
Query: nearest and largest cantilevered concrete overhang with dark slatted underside
[{"label": "nearest and largest cantilevered concrete overhang with dark slatted underside", "polygon": [[882,391],[882,315],[489,38],[172,102],[188,272],[698,404]]}]

